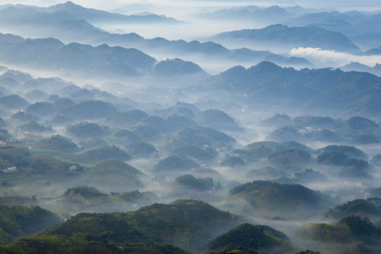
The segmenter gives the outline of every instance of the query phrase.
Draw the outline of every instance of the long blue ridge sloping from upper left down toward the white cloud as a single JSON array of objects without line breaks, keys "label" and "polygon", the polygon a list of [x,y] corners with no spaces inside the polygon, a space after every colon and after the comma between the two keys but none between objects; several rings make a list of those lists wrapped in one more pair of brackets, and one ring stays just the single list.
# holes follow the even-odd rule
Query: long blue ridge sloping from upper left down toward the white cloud
[{"label": "long blue ridge sloping from upper left down toward the white cloud", "polygon": [[[70,5],[70,4],[69,4]],[[80,8],[76,7],[75,8]],[[53,8],[54,10],[55,8]],[[52,10],[51,10],[52,11]],[[16,8],[10,6],[0,8],[0,24],[6,28],[14,28],[20,31],[24,37],[54,37],[63,43],[78,42],[85,44],[109,44],[110,46],[121,46],[143,50],[144,52],[160,52],[169,54],[171,57],[184,55],[195,55],[210,58],[210,56],[233,61],[244,61],[258,63],[266,59],[270,54],[272,61],[278,64],[291,66],[313,66],[306,59],[299,57],[287,58],[266,51],[255,51],[251,49],[229,50],[215,42],[199,42],[193,40],[167,40],[163,37],[145,39],[131,32],[128,34],[111,34],[105,32],[87,22],[84,15],[75,16],[76,12],[69,13],[65,8],[60,11],[48,12],[41,8],[24,6]],[[22,17],[22,18],[20,18]],[[83,18],[81,18],[83,17]],[[42,29],[43,28],[43,29]],[[1,29],[1,25],[0,25]],[[16,37],[11,38],[17,40]],[[176,56],[173,56],[176,55]]]}]

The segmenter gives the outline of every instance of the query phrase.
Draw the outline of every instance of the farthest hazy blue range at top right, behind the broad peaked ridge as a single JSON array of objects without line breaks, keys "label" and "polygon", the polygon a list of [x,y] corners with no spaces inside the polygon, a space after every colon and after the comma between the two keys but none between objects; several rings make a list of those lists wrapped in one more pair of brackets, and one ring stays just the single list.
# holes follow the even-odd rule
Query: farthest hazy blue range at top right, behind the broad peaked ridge
[{"label": "farthest hazy blue range at top right, behind the broad peaked ridge", "polygon": [[371,48],[380,46],[381,13],[380,11],[332,11],[313,10],[301,6],[282,8],[270,6],[243,6],[224,8],[198,15],[208,20],[241,20],[260,22],[262,25],[282,23],[289,26],[316,26],[332,32],[341,32],[356,45]]}]

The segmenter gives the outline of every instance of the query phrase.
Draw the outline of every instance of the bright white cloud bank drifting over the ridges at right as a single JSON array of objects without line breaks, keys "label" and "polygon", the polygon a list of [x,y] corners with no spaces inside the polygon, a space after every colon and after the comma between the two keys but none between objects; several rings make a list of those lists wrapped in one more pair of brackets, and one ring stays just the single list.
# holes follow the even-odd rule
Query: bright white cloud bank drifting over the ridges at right
[{"label": "bright white cloud bank drifting over the ridges at right", "polygon": [[350,63],[351,61],[363,63],[367,66],[375,66],[376,63],[381,63],[381,56],[356,56],[343,52],[335,52],[334,50],[311,47],[291,49],[290,55],[305,57],[307,59],[315,59],[322,63],[335,63],[336,66],[332,67],[344,66],[346,63]]}]

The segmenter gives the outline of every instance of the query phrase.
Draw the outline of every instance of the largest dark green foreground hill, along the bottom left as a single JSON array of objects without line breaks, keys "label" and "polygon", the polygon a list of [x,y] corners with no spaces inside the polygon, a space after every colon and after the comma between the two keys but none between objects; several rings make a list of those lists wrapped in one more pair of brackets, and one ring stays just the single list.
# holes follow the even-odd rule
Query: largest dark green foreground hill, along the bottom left
[{"label": "largest dark green foreground hill, along the bottom left", "polygon": [[[178,200],[169,205],[153,204],[135,212],[77,214],[64,224],[21,239],[1,251],[38,250],[43,248],[44,242],[55,253],[68,253],[90,244],[97,248],[126,246],[136,250],[140,243],[144,243],[143,250],[149,246],[147,243],[169,243],[195,251],[205,248],[207,241],[215,237],[214,231],[236,223],[231,214],[205,202]],[[163,252],[165,248],[181,253],[179,248],[167,245],[163,246]]]}]

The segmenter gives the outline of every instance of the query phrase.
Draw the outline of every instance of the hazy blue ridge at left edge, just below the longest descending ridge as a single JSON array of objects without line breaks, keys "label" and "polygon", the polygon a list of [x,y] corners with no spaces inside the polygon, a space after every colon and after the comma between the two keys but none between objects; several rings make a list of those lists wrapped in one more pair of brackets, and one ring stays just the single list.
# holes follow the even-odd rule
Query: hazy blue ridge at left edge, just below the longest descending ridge
[{"label": "hazy blue ridge at left edge, just below the longest descending ridge", "polygon": [[[53,39],[23,39],[15,35],[0,33],[0,56],[3,61],[35,68],[59,69],[80,75],[137,76],[142,74],[179,75],[205,73],[195,63],[181,59],[157,60],[138,49],[109,47],[102,44],[63,42]],[[167,68],[160,68],[167,63]],[[183,68],[186,64],[188,68]],[[191,68],[192,67],[192,68]],[[94,72],[96,71],[96,73]]]}]

